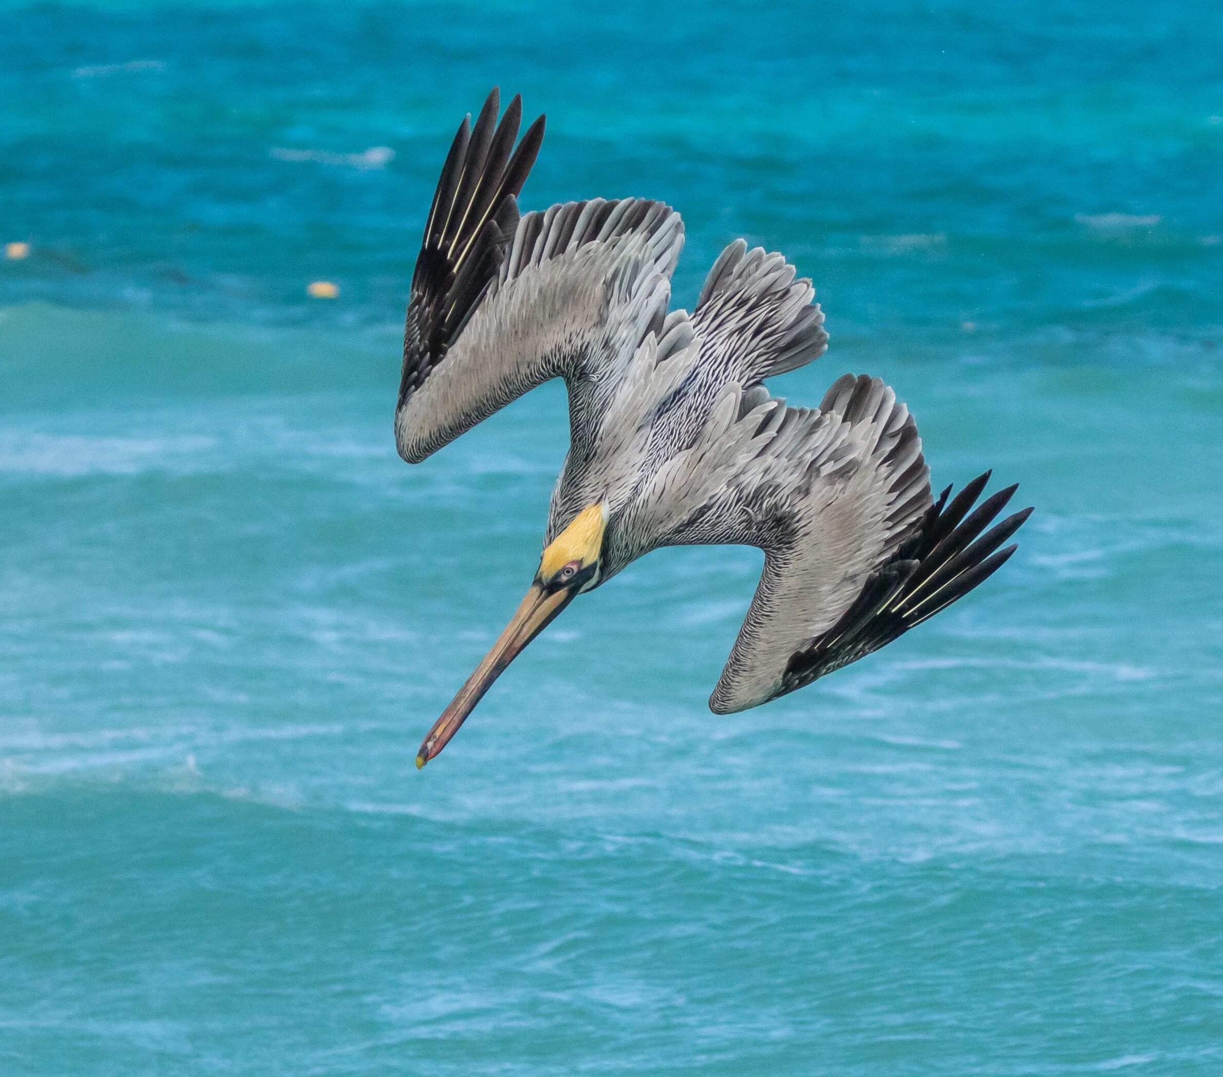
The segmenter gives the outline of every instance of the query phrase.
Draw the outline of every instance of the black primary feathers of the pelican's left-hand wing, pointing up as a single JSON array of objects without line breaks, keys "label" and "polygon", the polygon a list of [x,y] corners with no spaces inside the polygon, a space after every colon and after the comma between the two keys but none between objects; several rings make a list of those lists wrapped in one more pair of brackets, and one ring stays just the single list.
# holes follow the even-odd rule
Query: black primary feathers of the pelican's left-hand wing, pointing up
[{"label": "black primary feathers of the pelican's left-hand wing, pointing up", "polygon": [[475,127],[464,117],[433,194],[404,330],[401,405],[445,358],[497,278],[519,226],[517,196],[539,153],[544,117],[515,148],[522,99],[510,101],[500,123],[499,109],[494,88]]}]

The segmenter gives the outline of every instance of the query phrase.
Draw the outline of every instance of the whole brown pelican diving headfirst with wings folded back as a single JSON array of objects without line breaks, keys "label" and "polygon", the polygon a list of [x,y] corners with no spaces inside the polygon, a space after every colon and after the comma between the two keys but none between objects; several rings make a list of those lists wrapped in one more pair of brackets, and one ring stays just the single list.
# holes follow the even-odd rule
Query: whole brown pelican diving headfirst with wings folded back
[{"label": "whole brown pelican diving headfirst with wings folded back", "polygon": [[[459,127],[412,276],[395,443],[418,463],[549,378],[569,391],[570,449],[534,582],[421,744],[423,766],[488,687],[583,592],[669,545],[739,543],[764,570],[709,707],[758,707],[947,609],[1014,553],[1031,512],[994,523],[989,473],[936,500],[907,408],[845,374],[819,407],[764,379],[823,355],[807,279],[736,240],[696,308],[668,311],[680,216],[641,198],[519,215],[543,139],[515,148],[494,89]],[[993,524],[991,527],[991,524]],[[989,528],[988,531],[986,528]]]}]

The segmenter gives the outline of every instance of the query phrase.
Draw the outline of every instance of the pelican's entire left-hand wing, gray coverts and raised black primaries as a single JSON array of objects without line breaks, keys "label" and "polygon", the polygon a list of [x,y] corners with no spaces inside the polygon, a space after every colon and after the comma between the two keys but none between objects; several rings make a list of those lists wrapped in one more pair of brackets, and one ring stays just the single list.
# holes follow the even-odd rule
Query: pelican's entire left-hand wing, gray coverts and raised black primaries
[{"label": "pelican's entire left-hand wing, gray coverts and raised black primaries", "polygon": [[684,243],[679,214],[646,199],[520,220],[543,117],[511,154],[519,99],[494,130],[497,109],[494,90],[471,132],[459,128],[413,275],[395,413],[411,463],[554,377],[569,384],[576,441],[576,417],[605,402],[604,383],[660,323]]}]

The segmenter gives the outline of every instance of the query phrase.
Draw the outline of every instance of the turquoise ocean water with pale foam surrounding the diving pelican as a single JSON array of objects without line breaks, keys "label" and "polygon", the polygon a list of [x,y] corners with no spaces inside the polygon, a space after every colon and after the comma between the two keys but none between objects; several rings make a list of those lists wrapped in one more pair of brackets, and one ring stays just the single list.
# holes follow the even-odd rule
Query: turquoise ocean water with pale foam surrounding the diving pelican
[{"label": "turquoise ocean water with pale foam surrounding the diving pelican", "polygon": [[[1007,568],[715,718],[759,554],[654,554],[418,774],[566,445],[391,438],[494,82],[681,303],[786,252],[779,389],[1021,482]],[[0,1072],[1223,1072],[1221,191],[1214,4],[0,5]]]}]

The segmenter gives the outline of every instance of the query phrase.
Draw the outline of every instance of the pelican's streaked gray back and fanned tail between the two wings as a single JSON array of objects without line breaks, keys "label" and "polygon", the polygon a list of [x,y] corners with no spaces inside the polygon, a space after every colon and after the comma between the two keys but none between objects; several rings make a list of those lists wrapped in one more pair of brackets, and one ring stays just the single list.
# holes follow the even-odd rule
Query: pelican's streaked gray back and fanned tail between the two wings
[{"label": "pelican's streaked gray back and fanned tail between the two wings", "polygon": [[618,526],[604,578],[658,546],[741,542],[708,532],[709,509],[775,433],[763,423],[775,402],[762,379],[827,346],[813,296],[780,254],[742,240],[726,247],[696,309],[667,314],[634,357],[593,461],[558,485],[549,534],[575,505],[605,496]]}]

